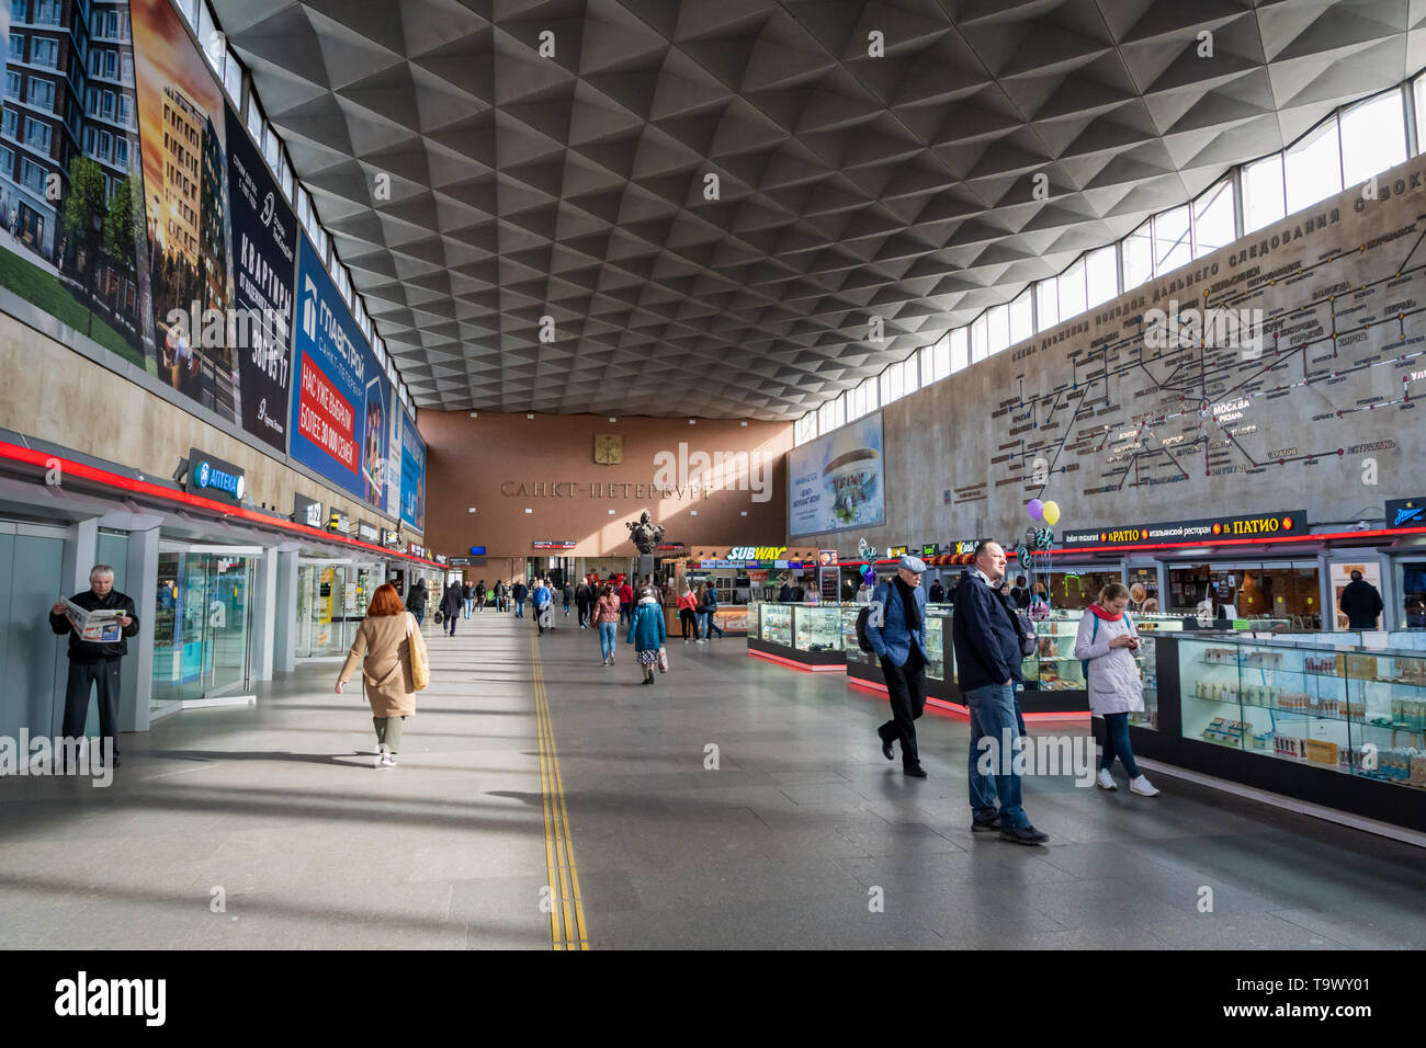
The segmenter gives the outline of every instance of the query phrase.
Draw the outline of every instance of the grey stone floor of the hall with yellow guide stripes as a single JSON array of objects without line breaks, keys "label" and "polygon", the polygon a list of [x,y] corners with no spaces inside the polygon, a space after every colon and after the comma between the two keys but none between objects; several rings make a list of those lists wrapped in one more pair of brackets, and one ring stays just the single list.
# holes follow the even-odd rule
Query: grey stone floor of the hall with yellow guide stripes
[{"label": "grey stone floor of the hall with yellow guide stripes", "polygon": [[396,769],[332,662],[123,736],[108,788],[0,780],[0,947],[1426,947],[1413,846],[1168,776],[1027,779],[1052,840],[1007,844],[970,833],[961,720],[908,780],[838,674],[674,639],[645,687],[559,622],[428,623]]}]

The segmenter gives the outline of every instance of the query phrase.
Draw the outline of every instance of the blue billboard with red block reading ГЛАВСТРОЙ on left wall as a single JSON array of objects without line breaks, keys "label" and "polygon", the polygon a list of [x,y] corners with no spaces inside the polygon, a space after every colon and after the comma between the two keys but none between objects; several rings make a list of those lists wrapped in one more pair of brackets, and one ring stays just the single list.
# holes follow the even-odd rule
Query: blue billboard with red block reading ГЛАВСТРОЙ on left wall
[{"label": "blue billboard with red block reading \u0413\u041b\u0410\u0412\u0421\u0422\u0420\u041e\u0419 on left wall", "polygon": [[391,388],[305,232],[292,348],[291,456],[385,510]]}]

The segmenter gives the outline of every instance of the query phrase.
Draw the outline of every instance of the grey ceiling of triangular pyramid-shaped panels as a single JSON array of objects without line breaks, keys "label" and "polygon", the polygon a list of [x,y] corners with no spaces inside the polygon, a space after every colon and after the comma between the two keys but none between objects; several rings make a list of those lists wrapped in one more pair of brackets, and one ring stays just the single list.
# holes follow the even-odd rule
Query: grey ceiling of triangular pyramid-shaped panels
[{"label": "grey ceiling of triangular pyramid-shaped panels", "polygon": [[1410,0],[211,1],[434,409],[797,418],[1426,61]]}]

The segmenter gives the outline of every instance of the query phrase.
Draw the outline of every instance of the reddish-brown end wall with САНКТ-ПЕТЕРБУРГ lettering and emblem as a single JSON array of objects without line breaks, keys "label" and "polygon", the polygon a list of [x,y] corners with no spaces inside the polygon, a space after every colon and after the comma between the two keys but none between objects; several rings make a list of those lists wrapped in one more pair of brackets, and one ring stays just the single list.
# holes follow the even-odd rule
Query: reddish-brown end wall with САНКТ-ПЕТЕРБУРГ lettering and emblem
[{"label": "reddish-brown end wall with \u0421\u0410\u041d\u041a\u0422-\u041f\u0415\u0422\u0415\u0420\u0411\u0423\u0420\u0413 lettering and emblem", "polygon": [[[426,540],[442,553],[633,556],[625,522],[645,509],[669,542],[786,543],[787,422],[422,411],[416,425],[428,445]],[[605,433],[623,436],[620,465],[595,462]],[[746,456],[747,468],[717,468],[719,452]],[[578,545],[536,550],[535,540]]]}]

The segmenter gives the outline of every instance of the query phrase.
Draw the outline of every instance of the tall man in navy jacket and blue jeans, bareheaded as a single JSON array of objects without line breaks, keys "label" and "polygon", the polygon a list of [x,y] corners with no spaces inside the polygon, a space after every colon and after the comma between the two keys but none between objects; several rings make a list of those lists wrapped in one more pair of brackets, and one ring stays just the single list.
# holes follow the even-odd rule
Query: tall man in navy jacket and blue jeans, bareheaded
[{"label": "tall man in navy jacket and blue jeans, bareheaded", "polygon": [[[1014,747],[1021,736],[1015,707],[1021,663],[1020,622],[1000,595],[1004,577],[1005,550],[998,542],[978,543],[973,567],[955,587],[955,612],[951,616],[957,683],[971,709],[971,830],[1000,830],[1004,841],[1044,844],[1050,834],[1030,824],[1021,807],[1020,776],[1014,773]],[[997,773],[994,779],[978,769],[981,739],[994,740],[990,749]]]}]

